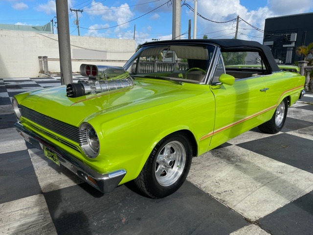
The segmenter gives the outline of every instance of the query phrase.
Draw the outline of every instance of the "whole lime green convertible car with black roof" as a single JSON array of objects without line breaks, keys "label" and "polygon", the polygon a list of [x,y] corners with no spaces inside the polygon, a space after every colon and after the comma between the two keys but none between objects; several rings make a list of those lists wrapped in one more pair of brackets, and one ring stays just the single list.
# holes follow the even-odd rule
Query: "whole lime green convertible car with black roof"
[{"label": "whole lime green convertible car with black roof", "polygon": [[269,47],[236,39],[146,43],[124,67],[80,71],[77,83],[14,96],[15,127],[98,190],[134,181],[153,198],[183,184],[194,156],[256,126],[279,132],[305,93]]}]

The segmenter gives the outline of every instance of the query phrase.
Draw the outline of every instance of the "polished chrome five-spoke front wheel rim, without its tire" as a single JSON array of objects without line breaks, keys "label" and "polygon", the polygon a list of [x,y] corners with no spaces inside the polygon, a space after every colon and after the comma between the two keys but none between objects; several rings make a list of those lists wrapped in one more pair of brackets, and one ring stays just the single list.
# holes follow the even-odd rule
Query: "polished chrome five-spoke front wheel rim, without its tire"
[{"label": "polished chrome five-spoke front wheel rim, without its tire", "polygon": [[167,143],[156,158],[156,181],[163,187],[173,185],[182,174],[186,163],[186,151],[179,141]]}]

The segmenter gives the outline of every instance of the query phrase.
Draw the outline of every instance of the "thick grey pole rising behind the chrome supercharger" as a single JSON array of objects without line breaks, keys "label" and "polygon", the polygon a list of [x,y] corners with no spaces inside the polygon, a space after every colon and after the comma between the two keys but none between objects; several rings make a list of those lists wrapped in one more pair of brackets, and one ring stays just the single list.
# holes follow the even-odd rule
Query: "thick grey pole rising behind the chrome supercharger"
[{"label": "thick grey pole rising behind the chrome supercharger", "polygon": [[73,82],[67,10],[68,5],[65,0],[56,0],[55,5],[58,19],[61,84],[67,85]]}]

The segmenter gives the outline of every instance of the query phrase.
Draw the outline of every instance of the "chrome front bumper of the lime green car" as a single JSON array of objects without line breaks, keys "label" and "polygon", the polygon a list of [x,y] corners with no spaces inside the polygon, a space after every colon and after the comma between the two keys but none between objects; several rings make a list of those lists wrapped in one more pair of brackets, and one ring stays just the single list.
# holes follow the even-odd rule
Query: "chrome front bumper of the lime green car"
[{"label": "chrome front bumper of the lime green car", "polygon": [[15,123],[14,127],[25,141],[28,141],[36,148],[44,150],[44,146],[46,146],[53,150],[57,154],[60,164],[64,165],[67,169],[71,170],[78,177],[101,192],[111,192],[118,186],[126,174],[125,169],[118,169],[105,174],[100,174],[50,141],[25,129],[21,122]]}]

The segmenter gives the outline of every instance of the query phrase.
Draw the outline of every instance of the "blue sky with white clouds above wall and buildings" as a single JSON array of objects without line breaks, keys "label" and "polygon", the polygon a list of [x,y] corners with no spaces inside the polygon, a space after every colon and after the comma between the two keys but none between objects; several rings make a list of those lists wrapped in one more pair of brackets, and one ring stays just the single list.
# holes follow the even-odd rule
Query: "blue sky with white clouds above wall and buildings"
[{"label": "blue sky with white clouds above wall and buildings", "polygon": [[[194,0],[181,1],[181,34],[187,38],[188,20],[192,24]],[[81,36],[133,39],[136,43],[152,39],[172,39],[172,12],[169,0],[68,0],[68,8],[83,9],[79,13]],[[55,0],[0,0],[0,24],[45,25],[56,21]],[[76,15],[69,11],[69,31],[78,35]],[[150,12],[150,13],[149,13]],[[265,19],[313,12],[313,0],[198,0],[198,13],[215,21],[229,21],[239,15],[243,20],[264,29]],[[137,19],[136,19],[137,18]],[[119,25],[119,26],[117,26]],[[212,23],[198,16],[197,38],[232,38],[236,23]],[[54,25],[56,30],[56,25]],[[238,38],[262,42],[263,33],[244,21],[239,23]]]}]

